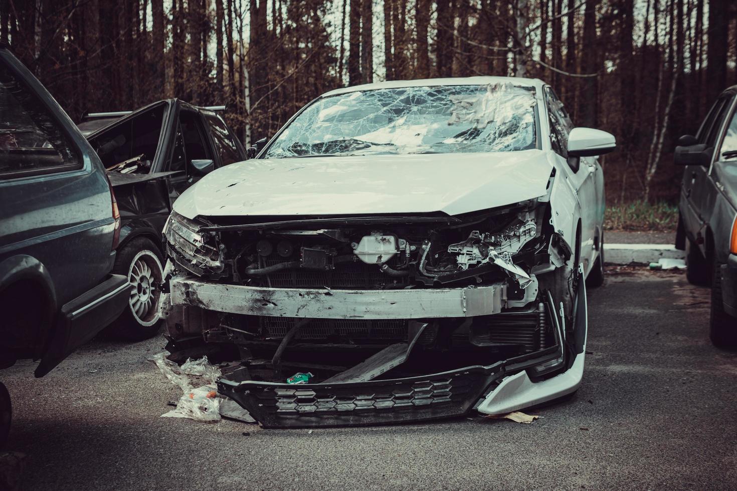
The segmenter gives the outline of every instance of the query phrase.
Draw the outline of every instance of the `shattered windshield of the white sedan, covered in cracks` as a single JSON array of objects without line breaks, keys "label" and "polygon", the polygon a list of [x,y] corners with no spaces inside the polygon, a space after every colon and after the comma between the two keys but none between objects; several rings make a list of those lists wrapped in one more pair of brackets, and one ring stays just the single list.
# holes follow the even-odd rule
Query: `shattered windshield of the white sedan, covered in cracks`
[{"label": "shattered windshield of the white sedan, covered in cracks", "polygon": [[265,158],[537,148],[535,92],[509,82],[356,91],[307,107]]}]

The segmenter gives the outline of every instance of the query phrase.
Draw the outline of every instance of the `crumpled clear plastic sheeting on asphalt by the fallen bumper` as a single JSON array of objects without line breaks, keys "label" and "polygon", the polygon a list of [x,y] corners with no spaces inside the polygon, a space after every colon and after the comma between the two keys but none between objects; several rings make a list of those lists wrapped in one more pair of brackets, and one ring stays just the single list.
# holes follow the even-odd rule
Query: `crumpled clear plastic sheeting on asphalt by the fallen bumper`
[{"label": "crumpled clear plastic sheeting on asphalt by the fallen bumper", "polygon": [[[161,370],[161,373],[172,384],[182,390],[182,395],[176,403],[176,409],[161,414],[161,417],[186,417],[196,421],[218,421],[220,417],[229,417],[247,423],[255,423],[254,418],[251,417],[251,414],[248,414],[248,411],[242,409],[234,401],[217,394],[217,388],[214,384],[222,374],[219,368],[214,367],[207,361],[206,356],[198,360],[188,358],[179,367],[173,361],[168,360],[167,355],[169,353],[164,351],[152,356],[149,360],[156,363],[158,370]],[[201,377],[209,383],[195,388],[189,375]]]}]

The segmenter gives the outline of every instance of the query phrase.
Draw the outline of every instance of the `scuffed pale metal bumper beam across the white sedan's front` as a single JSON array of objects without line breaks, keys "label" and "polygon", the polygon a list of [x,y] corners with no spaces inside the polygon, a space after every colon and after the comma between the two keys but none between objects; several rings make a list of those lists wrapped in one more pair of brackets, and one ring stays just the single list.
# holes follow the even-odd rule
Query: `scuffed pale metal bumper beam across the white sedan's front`
[{"label": "scuffed pale metal bumper beam across the white sedan's front", "polygon": [[430,319],[498,314],[506,285],[414,290],[268,288],[172,278],[172,305],[230,314],[322,319]]}]

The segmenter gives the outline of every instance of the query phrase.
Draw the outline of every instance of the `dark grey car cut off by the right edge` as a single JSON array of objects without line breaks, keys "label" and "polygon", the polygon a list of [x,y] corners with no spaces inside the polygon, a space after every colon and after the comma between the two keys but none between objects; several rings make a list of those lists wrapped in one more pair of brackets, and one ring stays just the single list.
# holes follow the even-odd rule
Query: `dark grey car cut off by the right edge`
[{"label": "dark grey car cut off by the right edge", "polygon": [[688,280],[711,286],[710,337],[737,347],[737,85],[722,92],[696,136],[684,135],[675,162],[685,166],[676,247]]}]

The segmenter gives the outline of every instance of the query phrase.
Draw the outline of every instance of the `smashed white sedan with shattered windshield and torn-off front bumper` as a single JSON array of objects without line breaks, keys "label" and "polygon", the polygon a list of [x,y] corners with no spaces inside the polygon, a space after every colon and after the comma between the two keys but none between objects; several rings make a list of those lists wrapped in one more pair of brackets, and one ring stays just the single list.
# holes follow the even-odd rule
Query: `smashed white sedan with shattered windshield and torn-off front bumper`
[{"label": "smashed white sedan with shattered windshield and torn-off front bumper", "polygon": [[[504,414],[575,392],[615,138],[540,80],[340,88],[174,205],[167,349],[266,427]],[[584,281],[585,280],[585,281]]]}]

